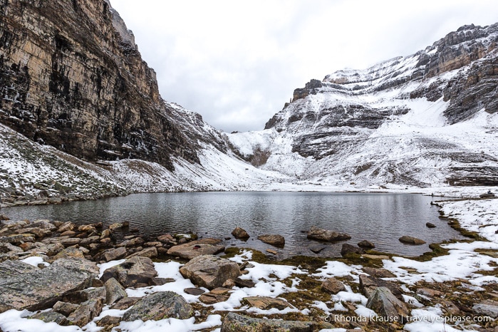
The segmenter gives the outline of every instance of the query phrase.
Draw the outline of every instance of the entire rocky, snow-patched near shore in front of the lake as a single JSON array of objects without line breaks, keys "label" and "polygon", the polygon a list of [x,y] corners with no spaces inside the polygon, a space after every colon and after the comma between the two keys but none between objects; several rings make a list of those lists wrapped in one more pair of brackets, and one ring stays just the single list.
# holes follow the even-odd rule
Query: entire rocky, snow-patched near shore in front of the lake
[{"label": "entire rocky, snow-patched near shore in front of the lake", "polygon": [[[498,309],[496,201],[436,204],[441,218],[469,240],[432,245],[432,252],[415,258],[370,249],[341,258],[296,256],[275,261],[271,252],[222,249],[217,239],[195,239],[192,234],[142,239],[138,229],[125,223],[104,229],[101,224],[76,227],[67,222],[7,220],[0,231],[1,264],[11,281],[15,275],[16,282],[30,284],[33,276],[53,275],[48,272],[62,276],[63,271],[76,273],[73,279],[82,281],[55,298],[45,294],[43,301],[26,298],[26,294],[22,301],[14,300],[15,292],[4,292],[9,299],[2,300],[0,328],[4,332],[18,331],[19,326],[22,331],[37,332],[251,331],[244,326],[256,323],[307,328],[299,331],[494,331]],[[171,251],[175,247],[185,251]],[[195,271],[185,271],[196,257],[204,259],[202,266],[221,257],[235,271],[229,277],[216,276],[221,284],[206,284]],[[145,270],[137,274],[130,271],[133,266]],[[130,278],[118,280],[123,274]],[[133,281],[134,274],[140,280]],[[145,275],[150,278],[144,279]],[[47,293],[43,286],[38,291]],[[108,294],[120,295],[110,300]],[[182,309],[169,312],[170,316],[127,314],[140,307],[140,301],[152,301],[153,294]],[[379,296],[383,300],[375,301]],[[386,306],[376,306],[385,299],[398,310],[388,312]]]}]

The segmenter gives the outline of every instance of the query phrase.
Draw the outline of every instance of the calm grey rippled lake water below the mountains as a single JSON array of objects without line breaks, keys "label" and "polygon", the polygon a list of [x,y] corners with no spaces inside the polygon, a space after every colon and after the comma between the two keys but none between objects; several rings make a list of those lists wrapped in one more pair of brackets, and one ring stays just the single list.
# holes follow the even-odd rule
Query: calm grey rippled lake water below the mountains
[{"label": "calm grey rippled lake water below the mountains", "polygon": [[[378,251],[417,256],[430,251],[428,244],[460,239],[460,233],[438,219],[431,197],[417,194],[365,194],[330,192],[194,192],[131,194],[96,201],[60,205],[11,207],[2,213],[11,219],[51,219],[76,223],[130,222],[140,234],[192,231],[199,237],[224,239],[235,227],[247,230],[247,242],[224,240],[229,247],[252,247],[279,251],[279,258],[305,254],[322,245],[306,239],[305,231],[318,226],[346,232],[357,244],[373,242]],[[428,229],[426,222],[437,227]],[[281,234],[284,249],[256,239],[260,234]],[[410,235],[425,240],[422,246],[402,244],[398,238]],[[340,256],[346,242],[326,244],[319,256]]]}]

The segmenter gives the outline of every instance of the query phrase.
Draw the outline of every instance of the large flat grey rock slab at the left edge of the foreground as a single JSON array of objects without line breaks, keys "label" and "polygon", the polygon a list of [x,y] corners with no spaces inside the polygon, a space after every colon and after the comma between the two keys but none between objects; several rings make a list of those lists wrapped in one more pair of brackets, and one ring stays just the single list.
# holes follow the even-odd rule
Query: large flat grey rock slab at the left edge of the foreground
[{"label": "large flat grey rock slab at the left edge of the foreground", "polygon": [[90,266],[91,262],[78,259],[59,259],[45,269],[8,277],[4,274],[0,278],[0,304],[29,311],[50,308],[66,294],[91,286],[97,274]]}]

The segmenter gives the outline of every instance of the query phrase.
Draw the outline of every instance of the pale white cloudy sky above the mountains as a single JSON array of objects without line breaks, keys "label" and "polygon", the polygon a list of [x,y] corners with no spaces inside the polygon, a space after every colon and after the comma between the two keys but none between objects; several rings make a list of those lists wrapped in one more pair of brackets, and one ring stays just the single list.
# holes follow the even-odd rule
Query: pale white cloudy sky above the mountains
[{"label": "pale white cloudy sky above the mountains", "polygon": [[232,132],[261,130],[295,88],[408,56],[496,0],[110,0],[157,72],[162,98]]}]

